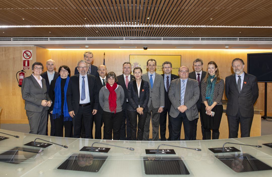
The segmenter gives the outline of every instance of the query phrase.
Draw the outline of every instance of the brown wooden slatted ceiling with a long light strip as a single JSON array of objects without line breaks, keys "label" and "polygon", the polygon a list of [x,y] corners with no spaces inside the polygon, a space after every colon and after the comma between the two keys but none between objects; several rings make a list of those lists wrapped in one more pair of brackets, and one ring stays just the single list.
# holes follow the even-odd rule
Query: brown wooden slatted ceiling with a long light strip
[{"label": "brown wooden slatted ceiling with a long light strip", "polygon": [[[147,19],[149,17],[149,19]],[[25,20],[22,20],[24,18]],[[86,18],[86,19],[85,19]],[[212,18],[212,20],[210,20]],[[272,26],[270,0],[1,0],[0,25],[172,24]],[[49,33],[49,31],[51,33]],[[8,28],[0,37],[244,36],[271,37],[260,28]],[[2,33],[4,32],[4,33]],[[239,33],[241,32],[241,33]]]}]

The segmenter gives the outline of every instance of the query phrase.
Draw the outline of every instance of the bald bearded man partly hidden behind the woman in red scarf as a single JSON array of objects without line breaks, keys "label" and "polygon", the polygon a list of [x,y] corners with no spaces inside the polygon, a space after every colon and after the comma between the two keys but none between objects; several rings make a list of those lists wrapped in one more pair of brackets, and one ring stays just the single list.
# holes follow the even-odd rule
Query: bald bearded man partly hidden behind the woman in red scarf
[{"label": "bald bearded man partly hidden behind the woman in red scarf", "polygon": [[[105,79],[107,74],[107,67],[105,65],[98,66],[98,74],[99,77],[96,77],[96,83],[97,83],[97,91],[99,93],[100,89],[106,85]],[[100,104],[98,103],[98,111],[94,115],[94,124],[95,124],[95,139],[102,139],[101,135],[101,127],[103,125],[103,109],[101,108]]]}]

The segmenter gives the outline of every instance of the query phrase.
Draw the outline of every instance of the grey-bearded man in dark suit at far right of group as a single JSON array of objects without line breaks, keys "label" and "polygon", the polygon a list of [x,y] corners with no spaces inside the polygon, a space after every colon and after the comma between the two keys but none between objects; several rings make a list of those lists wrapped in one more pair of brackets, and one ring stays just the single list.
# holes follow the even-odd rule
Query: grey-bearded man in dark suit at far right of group
[{"label": "grey-bearded man in dark suit at far right of group", "polygon": [[249,137],[254,115],[254,103],[259,96],[257,78],[243,71],[245,63],[235,58],[232,63],[234,74],[226,77],[225,94],[228,98],[227,117],[229,138],[238,137],[241,123],[241,137]]}]

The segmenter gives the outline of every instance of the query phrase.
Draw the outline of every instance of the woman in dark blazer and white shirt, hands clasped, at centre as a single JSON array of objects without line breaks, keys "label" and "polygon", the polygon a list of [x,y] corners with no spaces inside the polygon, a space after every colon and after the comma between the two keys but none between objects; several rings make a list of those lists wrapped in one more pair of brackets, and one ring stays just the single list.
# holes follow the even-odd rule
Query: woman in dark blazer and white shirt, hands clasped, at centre
[{"label": "woman in dark blazer and white shirt, hands clasped, at centre", "polygon": [[[148,101],[149,101],[149,83],[142,79],[142,69],[135,67],[133,69],[134,80],[128,83],[128,117],[130,121],[131,140],[142,141],[144,133],[144,123],[146,122]],[[138,132],[137,132],[138,115]],[[136,138],[137,132],[137,138]]]}]

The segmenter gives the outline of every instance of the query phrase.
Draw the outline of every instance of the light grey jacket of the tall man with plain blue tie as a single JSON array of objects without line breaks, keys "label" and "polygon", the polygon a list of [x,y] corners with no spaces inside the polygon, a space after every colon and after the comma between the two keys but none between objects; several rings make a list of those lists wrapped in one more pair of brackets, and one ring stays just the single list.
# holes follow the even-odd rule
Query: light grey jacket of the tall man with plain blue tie
[{"label": "light grey jacket of the tall man with plain blue tie", "polygon": [[143,74],[142,79],[149,83],[149,101],[147,106],[149,107],[152,101],[154,108],[164,107],[164,82],[162,75],[155,74],[153,88],[150,86],[148,72]]}]

